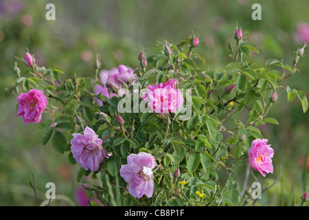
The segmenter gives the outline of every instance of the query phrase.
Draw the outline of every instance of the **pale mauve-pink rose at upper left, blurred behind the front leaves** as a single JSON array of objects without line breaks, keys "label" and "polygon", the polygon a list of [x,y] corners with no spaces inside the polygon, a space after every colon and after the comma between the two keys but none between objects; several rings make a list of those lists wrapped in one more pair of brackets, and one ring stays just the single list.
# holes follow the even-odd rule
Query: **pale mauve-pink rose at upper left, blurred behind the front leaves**
[{"label": "pale mauve-pink rose at upper left, blurred behind the front leaves", "polygon": [[[130,67],[126,67],[124,65],[119,65],[117,68],[113,68],[111,70],[102,70],[100,72],[100,82],[101,85],[97,85],[95,89],[95,95],[102,94],[107,98],[112,98],[113,96],[118,96],[118,94],[114,91],[120,91],[120,94],[124,94],[124,90],[122,89],[122,83],[131,82],[130,85],[133,85],[136,81],[136,74],[134,74],[135,69],[131,69]],[[109,89],[108,89],[109,87]],[[102,106],[102,101],[97,99],[99,105]]]}]

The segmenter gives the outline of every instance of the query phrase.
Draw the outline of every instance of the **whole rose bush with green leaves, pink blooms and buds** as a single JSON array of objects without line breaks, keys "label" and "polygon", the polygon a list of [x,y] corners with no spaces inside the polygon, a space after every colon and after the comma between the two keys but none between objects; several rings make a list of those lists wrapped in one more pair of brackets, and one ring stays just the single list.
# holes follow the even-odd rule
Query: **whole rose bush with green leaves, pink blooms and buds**
[{"label": "whole rose bush with green leaves, pink blooms and buds", "polygon": [[[231,63],[214,71],[207,69],[207,55],[194,53],[196,34],[161,43],[159,54],[146,56],[141,48],[135,69],[104,70],[97,56],[89,78],[65,78],[64,69],[39,67],[27,52],[21,59],[27,69],[16,63],[16,82],[6,91],[25,92],[17,115],[40,122],[42,144],[51,142],[80,166],[78,182],[100,179],[84,189],[104,206],[238,206],[248,202],[232,177],[237,162],[262,177],[277,169],[259,125],[278,124],[267,115],[278,96],[286,91],[288,101],[299,98],[308,109],[304,91],[282,85],[299,72],[306,44],[291,65],[270,58],[260,67],[246,60],[259,50],[245,39],[236,28]],[[30,96],[33,91],[40,96]]]}]

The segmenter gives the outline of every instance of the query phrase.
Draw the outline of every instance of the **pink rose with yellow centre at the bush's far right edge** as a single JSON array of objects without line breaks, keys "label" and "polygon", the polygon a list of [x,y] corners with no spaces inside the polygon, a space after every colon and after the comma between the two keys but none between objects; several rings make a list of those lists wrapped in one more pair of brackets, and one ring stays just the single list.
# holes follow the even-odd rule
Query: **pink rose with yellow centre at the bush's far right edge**
[{"label": "pink rose with yellow centre at the bush's far right edge", "polygon": [[267,144],[267,139],[255,139],[251,144],[248,151],[249,164],[254,169],[262,174],[263,177],[266,173],[273,173],[273,148],[271,144]]}]

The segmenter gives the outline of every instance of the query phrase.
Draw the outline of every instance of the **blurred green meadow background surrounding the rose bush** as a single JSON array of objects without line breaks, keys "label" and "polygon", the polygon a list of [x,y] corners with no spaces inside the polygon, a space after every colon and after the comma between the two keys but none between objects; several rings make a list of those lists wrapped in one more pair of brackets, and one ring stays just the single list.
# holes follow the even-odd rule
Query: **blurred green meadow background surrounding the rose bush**
[{"label": "blurred green meadow background surrounding the rose bush", "polygon": [[[45,19],[47,3],[56,6],[56,21]],[[56,152],[50,143],[43,146],[43,131],[38,131],[38,124],[23,124],[16,117],[16,94],[5,95],[5,87],[15,80],[14,63],[26,68],[15,56],[23,58],[28,48],[38,65],[64,68],[62,77],[71,78],[73,74],[94,77],[95,54],[101,55],[103,69],[120,64],[135,69],[139,65],[139,46],[146,48],[146,56],[158,53],[161,50],[158,41],[179,43],[193,31],[200,36],[201,44],[196,52],[205,56],[205,69],[221,69],[231,62],[228,39],[233,39],[238,21],[243,32],[249,32],[245,34],[247,40],[260,48],[260,54],[253,54],[251,59],[264,65],[268,58],[277,58],[292,65],[293,52],[304,45],[304,41],[295,39],[295,32],[297,23],[309,23],[308,0],[259,1],[260,21],[251,19],[253,3],[256,2],[0,0],[0,206],[36,206],[30,187],[32,173],[39,203],[45,200],[47,182],[54,182],[56,195],[62,195],[54,205],[76,203],[78,164],[71,166],[68,155]],[[289,78],[288,85],[308,94],[309,56],[301,58],[298,67],[301,74]],[[282,172],[275,186],[255,205],[290,206],[300,203],[304,188],[301,159],[309,149],[308,113],[302,112],[297,99],[288,102],[283,92],[269,116],[277,118],[279,126],[266,124],[260,129],[275,150],[274,173],[266,178],[256,176],[265,188],[275,181],[279,166]],[[244,162],[234,169],[233,178],[242,186]],[[249,179],[249,184],[253,181]],[[308,190],[308,184],[305,187]]]}]

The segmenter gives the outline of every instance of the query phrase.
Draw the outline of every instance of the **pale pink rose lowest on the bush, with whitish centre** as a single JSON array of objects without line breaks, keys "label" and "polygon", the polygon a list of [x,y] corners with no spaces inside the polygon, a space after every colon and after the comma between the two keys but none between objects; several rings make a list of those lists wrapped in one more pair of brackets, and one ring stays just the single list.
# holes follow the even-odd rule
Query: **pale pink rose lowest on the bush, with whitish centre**
[{"label": "pale pink rose lowest on the bush, with whitish centre", "polygon": [[120,176],[128,182],[128,192],[133,197],[140,198],[144,194],[152,197],[154,181],[152,168],[157,165],[155,157],[150,153],[140,152],[128,155],[128,164],[120,168]]}]

